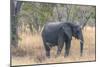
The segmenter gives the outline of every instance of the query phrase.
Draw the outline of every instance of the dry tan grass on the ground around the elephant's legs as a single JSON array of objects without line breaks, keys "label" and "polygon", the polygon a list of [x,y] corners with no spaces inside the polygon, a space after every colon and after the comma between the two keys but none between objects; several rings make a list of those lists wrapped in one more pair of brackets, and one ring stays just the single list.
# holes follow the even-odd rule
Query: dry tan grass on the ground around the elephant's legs
[{"label": "dry tan grass on the ground around the elephant's legs", "polygon": [[64,58],[64,49],[59,57],[55,58],[56,47],[51,49],[51,58],[45,56],[41,35],[19,34],[22,40],[18,48],[11,48],[12,65],[45,64],[60,62],[94,61],[95,60],[95,28],[86,27],[84,35],[84,54],[80,57],[79,41],[74,39],[71,43],[70,55]]}]

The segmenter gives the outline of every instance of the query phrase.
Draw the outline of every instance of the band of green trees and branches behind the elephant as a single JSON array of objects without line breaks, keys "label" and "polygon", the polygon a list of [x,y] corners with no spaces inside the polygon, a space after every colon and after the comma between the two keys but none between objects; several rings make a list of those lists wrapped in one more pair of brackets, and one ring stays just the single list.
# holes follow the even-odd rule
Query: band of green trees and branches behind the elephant
[{"label": "band of green trees and branches behind the elephant", "polygon": [[25,24],[25,26],[29,26],[31,32],[40,32],[47,21],[57,21],[59,19],[62,21],[64,18],[72,23],[89,22],[95,24],[95,9],[95,6],[23,2],[18,14],[18,26]]}]

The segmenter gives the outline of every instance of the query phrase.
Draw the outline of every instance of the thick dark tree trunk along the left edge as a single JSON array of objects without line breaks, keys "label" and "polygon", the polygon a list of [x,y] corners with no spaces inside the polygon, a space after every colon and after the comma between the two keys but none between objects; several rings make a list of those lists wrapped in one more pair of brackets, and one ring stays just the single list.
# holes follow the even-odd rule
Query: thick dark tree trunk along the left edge
[{"label": "thick dark tree trunk along the left edge", "polygon": [[17,14],[20,11],[22,2],[11,0],[10,7],[11,7],[11,45],[14,47],[18,46],[18,32],[17,32]]}]

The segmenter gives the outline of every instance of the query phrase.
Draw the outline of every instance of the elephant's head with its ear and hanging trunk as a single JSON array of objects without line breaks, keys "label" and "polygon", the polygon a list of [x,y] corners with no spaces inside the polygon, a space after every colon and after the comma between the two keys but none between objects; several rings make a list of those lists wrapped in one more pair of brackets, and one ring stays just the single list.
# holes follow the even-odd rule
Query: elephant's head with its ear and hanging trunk
[{"label": "elephant's head with its ear and hanging trunk", "polygon": [[76,39],[80,40],[80,55],[82,56],[83,53],[83,34],[82,34],[82,28],[79,25],[75,24],[64,24],[63,29],[66,33],[66,35],[72,39],[72,36],[75,37]]}]

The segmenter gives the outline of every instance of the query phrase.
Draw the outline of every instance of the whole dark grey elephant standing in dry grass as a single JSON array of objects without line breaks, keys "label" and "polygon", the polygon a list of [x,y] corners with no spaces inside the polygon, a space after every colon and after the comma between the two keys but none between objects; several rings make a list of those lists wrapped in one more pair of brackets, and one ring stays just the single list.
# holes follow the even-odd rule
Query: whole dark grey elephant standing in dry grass
[{"label": "whole dark grey elephant standing in dry grass", "polygon": [[[57,46],[59,56],[65,43],[64,57],[69,55],[72,36],[80,40],[80,55],[83,53],[83,35],[81,27],[72,23],[50,22],[45,24],[42,31],[42,39],[46,50],[46,56],[50,58],[50,49]],[[75,44],[73,44],[75,45]]]}]

